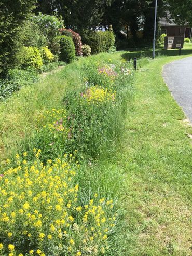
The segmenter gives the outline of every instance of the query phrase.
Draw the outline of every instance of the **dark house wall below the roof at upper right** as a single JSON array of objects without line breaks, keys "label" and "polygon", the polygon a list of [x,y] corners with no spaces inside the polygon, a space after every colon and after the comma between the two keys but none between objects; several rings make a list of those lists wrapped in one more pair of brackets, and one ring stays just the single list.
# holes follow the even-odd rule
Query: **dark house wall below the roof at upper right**
[{"label": "dark house wall below the roof at upper right", "polygon": [[167,36],[190,37],[191,28],[186,30],[186,35],[185,35],[185,28],[188,28],[188,27],[187,26],[161,26],[161,32],[165,33],[166,31]]}]

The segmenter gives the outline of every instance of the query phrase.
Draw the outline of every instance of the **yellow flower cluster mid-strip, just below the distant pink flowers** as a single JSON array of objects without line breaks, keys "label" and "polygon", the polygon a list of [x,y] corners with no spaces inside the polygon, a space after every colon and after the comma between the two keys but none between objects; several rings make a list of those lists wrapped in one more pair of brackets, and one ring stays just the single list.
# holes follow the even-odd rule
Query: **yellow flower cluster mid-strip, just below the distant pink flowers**
[{"label": "yellow flower cluster mid-strip, just below the distant pink flowers", "polygon": [[116,92],[112,92],[108,88],[99,86],[90,87],[85,93],[81,93],[81,97],[86,99],[88,103],[100,103],[106,101],[114,101]]}]

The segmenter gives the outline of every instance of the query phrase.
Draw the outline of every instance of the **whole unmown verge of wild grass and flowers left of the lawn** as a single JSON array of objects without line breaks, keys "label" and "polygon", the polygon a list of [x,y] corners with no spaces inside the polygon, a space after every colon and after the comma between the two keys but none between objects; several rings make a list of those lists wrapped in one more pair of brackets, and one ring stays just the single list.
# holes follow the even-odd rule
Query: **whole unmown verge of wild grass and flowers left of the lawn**
[{"label": "whole unmown verge of wild grass and flowers left of the lawn", "polygon": [[[15,120],[6,119],[12,123],[10,133],[5,133],[7,126],[2,124],[3,152],[8,157],[2,162],[8,166],[4,165],[1,177],[4,253],[79,256],[125,252],[120,239],[124,236],[120,232],[122,176],[102,161],[104,155],[113,155],[112,145],[122,136],[133,77],[130,64],[119,55],[102,54],[80,58],[57,76],[23,88],[12,98],[14,104],[2,114],[10,118],[9,110],[17,113]],[[23,134],[12,140],[11,133],[18,131]],[[63,155],[70,158],[64,162],[66,166],[72,158],[79,161],[74,177],[67,177],[68,173],[73,176],[67,167],[62,178]],[[45,177],[47,172],[50,177]],[[74,183],[68,186],[71,180]],[[103,204],[108,209],[103,210]]]}]

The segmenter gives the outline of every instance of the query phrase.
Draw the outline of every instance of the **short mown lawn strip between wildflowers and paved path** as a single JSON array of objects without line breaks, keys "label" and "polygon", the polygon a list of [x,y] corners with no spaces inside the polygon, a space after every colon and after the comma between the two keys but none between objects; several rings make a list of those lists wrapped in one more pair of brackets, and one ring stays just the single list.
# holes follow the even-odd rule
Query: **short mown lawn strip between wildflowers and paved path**
[{"label": "short mown lawn strip between wildflowers and paved path", "polygon": [[161,76],[164,64],[182,57],[158,57],[136,74],[119,156],[127,255],[191,255],[192,129]]}]

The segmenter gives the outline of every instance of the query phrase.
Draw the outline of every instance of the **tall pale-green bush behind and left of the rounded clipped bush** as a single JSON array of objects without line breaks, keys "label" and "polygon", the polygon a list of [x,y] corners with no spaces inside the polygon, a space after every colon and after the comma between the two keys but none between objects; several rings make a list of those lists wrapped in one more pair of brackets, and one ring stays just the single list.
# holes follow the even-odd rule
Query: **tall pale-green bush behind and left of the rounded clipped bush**
[{"label": "tall pale-green bush behind and left of the rounded clipped bush", "polygon": [[47,38],[47,44],[51,52],[56,51],[54,38],[60,35],[60,29],[63,28],[63,20],[54,15],[41,14],[31,17],[31,21],[38,25],[42,35]]}]

